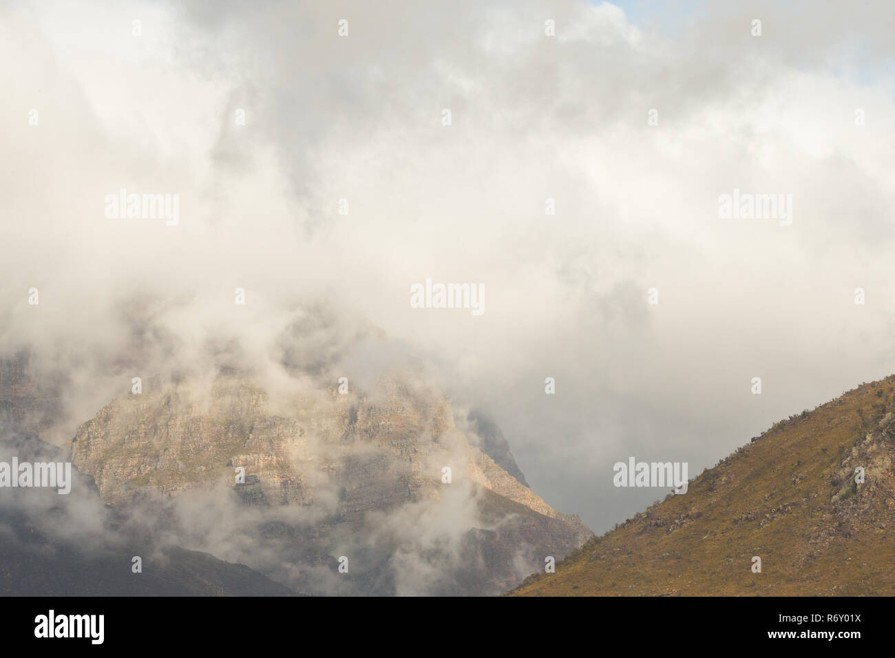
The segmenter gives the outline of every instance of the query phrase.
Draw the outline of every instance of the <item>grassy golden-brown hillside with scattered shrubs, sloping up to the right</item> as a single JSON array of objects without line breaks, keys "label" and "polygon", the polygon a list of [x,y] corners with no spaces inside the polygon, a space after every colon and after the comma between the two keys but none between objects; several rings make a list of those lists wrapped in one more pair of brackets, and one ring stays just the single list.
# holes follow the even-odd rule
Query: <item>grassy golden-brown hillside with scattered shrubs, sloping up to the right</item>
[{"label": "grassy golden-brown hillside with scattered shrubs, sloping up to the right", "polygon": [[511,594],[891,596],[893,464],[889,377],[775,423]]}]

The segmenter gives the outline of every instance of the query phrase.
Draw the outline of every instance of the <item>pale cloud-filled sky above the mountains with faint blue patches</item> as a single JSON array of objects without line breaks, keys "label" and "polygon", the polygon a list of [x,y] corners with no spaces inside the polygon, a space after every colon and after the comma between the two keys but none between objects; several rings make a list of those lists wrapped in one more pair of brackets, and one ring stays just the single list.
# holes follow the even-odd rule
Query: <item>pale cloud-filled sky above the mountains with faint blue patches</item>
[{"label": "pale cloud-filled sky above the mountains with faint blue patches", "polygon": [[[61,444],[128,373],[273,368],[323,312],[312,346],[346,377],[430,363],[601,533],[667,493],[614,487],[616,462],[692,477],[895,372],[893,22],[887,2],[6,2],[0,348],[64,372]],[[108,218],[122,188],[177,194],[176,226]],[[720,217],[735,190],[792,195],[791,224]],[[413,308],[426,278],[483,286],[484,312]]]}]

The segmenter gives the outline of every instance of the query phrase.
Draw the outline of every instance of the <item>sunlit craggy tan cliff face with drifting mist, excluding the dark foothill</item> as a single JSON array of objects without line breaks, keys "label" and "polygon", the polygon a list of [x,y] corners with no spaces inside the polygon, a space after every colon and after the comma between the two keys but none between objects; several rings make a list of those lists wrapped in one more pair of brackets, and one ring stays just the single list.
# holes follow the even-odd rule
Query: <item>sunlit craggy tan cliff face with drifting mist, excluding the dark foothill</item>
[{"label": "sunlit craggy tan cliff face with drifting mist, excluding the dark foothill", "polygon": [[[78,428],[72,463],[116,507],[188,509],[188,548],[300,591],[496,594],[592,533],[499,466],[483,451],[492,444],[458,432],[444,397],[399,378],[276,400],[221,378],[116,399]],[[497,455],[512,461],[503,446]],[[240,517],[239,541],[197,529],[202,505]],[[343,556],[351,568],[333,580]]]}]

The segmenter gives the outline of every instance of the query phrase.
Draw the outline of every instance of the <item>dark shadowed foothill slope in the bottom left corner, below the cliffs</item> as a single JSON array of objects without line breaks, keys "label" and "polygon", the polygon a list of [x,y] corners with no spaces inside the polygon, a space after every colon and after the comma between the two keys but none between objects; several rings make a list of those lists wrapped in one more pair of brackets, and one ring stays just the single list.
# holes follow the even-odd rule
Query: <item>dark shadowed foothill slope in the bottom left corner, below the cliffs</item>
[{"label": "dark shadowed foothill slope in the bottom left corner, below the cliffs", "polygon": [[[3,432],[0,460],[59,462],[64,451],[29,432]],[[243,564],[158,545],[133,519],[116,518],[89,477],[72,469],[72,491],[0,491],[0,595],[294,596]],[[141,558],[139,573],[132,559]]]}]

